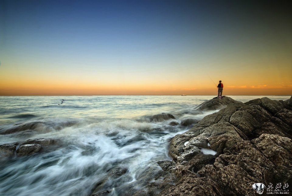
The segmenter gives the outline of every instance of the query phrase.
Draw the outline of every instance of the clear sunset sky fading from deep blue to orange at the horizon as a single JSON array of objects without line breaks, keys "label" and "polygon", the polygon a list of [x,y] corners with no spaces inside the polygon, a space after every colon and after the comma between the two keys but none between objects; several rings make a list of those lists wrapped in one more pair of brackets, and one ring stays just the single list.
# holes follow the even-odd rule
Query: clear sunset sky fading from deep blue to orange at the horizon
[{"label": "clear sunset sky fading from deep blue to orange at the horizon", "polygon": [[292,6],[0,0],[0,63],[0,95],[291,95]]}]

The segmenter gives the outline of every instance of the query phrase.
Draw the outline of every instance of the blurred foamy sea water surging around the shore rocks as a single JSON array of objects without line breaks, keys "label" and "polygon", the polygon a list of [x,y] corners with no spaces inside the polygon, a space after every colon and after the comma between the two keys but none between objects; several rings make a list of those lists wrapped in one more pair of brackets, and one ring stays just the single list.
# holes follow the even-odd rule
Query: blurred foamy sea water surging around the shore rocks
[{"label": "blurred foamy sea water surging around the shore rocks", "polygon": [[[0,195],[85,196],[116,167],[126,168],[127,172],[107,190],[112,191],[111,195],[123,195],[119,187],[135,182],[139,171],[158,160],[171,160],[170,138],[193,126],[169,123],[200,120],[217,112],[194,110],[213,97],[1,96],[0,134],[23,123],[38,126],[1,134],[0,145],[34,138],[58,139],[62,145],[51,151],[0,160]],[[264,96],[230,97],[246,102]],[[160,113],[172,114],[175,119],[150,120]]]}]

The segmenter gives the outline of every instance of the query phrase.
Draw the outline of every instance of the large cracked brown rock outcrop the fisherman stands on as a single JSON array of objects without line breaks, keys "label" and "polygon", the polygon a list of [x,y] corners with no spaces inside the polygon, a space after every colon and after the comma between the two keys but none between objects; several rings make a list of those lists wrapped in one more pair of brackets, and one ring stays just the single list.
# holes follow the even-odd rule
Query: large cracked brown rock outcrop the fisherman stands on
[{"label": "large cracked brown rock outcrop the fisherman stands on", "polygon": [[158,164],[177,181],[159,195],[258,195],[254,183],[292,184],[291,106],[292,97],[246,103],[224,97],[199,105],[223,109],[170,141],[173,161]]}]

